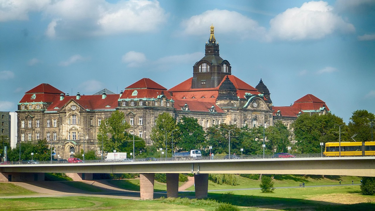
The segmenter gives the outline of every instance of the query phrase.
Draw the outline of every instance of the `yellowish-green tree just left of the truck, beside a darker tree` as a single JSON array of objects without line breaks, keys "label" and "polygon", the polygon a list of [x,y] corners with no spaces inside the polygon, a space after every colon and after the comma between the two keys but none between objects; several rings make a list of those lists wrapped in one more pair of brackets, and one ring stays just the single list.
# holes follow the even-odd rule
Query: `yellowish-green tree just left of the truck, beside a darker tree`
[{"label": "yellowish-green tree just left of the truck, beside a darker tree", "polygon": [[[175,119],[172,115],[164,112],[156,118],[156,125],[151,129],[151,140],[154,146],[165,149],[165,142],[167,150],[172,148],[172,131],[178,129]],[[178,134],[178,133],[177,133]],[[173,133],[175,135],[175,131]]]}]

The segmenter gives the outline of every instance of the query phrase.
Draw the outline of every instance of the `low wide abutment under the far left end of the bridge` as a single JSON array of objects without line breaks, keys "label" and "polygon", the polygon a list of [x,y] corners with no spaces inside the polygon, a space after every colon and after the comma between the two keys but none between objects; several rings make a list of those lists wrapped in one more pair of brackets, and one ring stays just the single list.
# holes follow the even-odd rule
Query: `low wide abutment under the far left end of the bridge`
[{"label": "low wide abutment under the far left end of the bridge", "polygon": [[44,181],[44,173],[4,172],[0,173],[0,182]]}]

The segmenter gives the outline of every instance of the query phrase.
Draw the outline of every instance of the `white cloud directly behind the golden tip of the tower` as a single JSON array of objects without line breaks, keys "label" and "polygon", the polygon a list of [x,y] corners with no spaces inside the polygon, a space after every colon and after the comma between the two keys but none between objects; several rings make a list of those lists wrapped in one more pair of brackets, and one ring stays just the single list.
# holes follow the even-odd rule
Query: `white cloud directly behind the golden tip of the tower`
[{"label": "white cloud directly behind the golden tip of the tower", "polygon": [[187,35],[207,35],[211,24],[215,30],[222,34],[238,35],[241,38],[260,38],[266,33],[264,27],[260,27],[258,22],[248,18],[238,12],[228,10],[207,10],[200,15],[181,22],[184,28],[183,34]]}]

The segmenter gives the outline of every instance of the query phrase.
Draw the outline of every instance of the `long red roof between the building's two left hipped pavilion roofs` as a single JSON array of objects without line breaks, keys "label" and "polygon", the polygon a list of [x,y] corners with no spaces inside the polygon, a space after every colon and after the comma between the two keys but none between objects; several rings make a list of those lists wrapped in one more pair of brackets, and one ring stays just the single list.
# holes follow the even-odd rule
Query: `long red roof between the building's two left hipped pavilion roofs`
[{"label": "long red roof between the building's two left hipped pavilion roofs", "polygon": [[[54,102],[50,106],[48,106],[47,111],[58,111],[70,100],[76,102],[83,109],[114,109],[118,106],[117,100],[119,96],[119,94],[107,94],[107,97],[105,97],[105,99],[102,99],[102,95],[82,95],[78,100],[76,99],[76,96],[65,96],[63,100],[60,100],[60,97],[56,97],[54,99]],[[110,107],[106,107],[107,105],[109,105]]]}]

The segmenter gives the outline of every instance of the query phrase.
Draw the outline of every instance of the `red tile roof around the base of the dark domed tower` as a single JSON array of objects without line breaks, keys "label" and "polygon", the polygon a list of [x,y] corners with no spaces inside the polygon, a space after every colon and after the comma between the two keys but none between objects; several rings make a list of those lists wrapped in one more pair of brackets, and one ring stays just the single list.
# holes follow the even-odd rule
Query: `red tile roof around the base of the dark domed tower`
[{"label": "red tile roof around the base of the dark domed tower", "polygon": [[[245,93],[260,94],[260,92],[256,88],[245,83],[244,81],[237,78],[236,76],[229,75],[228,77],[233,82],[234,87],[236,87],[237,96],[239,96],[240,98],[244,99]],[[222,82],[225,80],[225,78],[223,78],[220,84],[214,88],[193,89],[191,88],[191,80],[192,78],[189,78],[186,81],[183,81],[180,84],[170,88],[168,91],[172,92],[173,94],[172,99],[178,100],[178,99],[183,99],[183,97],[185,97],[186,99],[192,99],[192,100],[199,99],[199,101],[204,101],[204,102],[216,102],[216,97],[219,94],[218,92],[219,87],[222,84]],[[202,96],[204,96],[204,98],[202,98]]]}]

